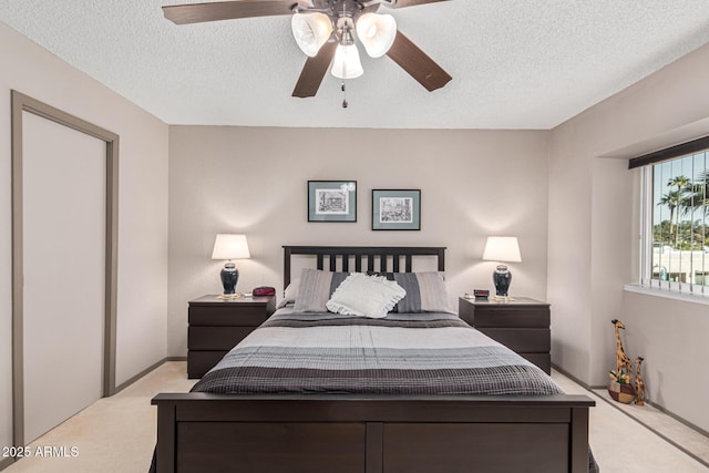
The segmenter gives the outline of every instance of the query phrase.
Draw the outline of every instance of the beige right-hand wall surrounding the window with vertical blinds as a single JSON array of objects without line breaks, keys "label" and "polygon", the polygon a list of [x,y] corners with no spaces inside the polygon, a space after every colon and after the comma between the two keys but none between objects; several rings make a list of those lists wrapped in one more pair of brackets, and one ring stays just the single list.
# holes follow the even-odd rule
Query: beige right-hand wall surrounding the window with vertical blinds
[{"label": "beige right-hand wall surrounding the window with vertical blinds", "polygon": [[703,47],[552,131],[547,280],[555,364],[605,385],[618,318],[650,400],[706,431],[707,306],[623,285],[638,280],[639,233],[639,175],[625,160],[709,134],[708,82]]}]

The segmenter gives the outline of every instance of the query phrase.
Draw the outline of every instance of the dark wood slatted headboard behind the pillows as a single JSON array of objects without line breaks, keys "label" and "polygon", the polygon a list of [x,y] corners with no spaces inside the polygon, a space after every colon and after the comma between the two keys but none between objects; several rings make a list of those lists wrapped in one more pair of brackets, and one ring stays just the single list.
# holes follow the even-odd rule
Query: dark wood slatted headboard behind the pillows
[{"label": "dark wood slatted headboard behind the pillows", "polygon": [[[445,270],[444,246],[284,246],[284,289],[290,284],[290,257],[292,255],[315,255],[317,269],[326,269],[325,257],[328,257],[330,271],[338,270],[338,260],[342,271],[378,271],[411,273],[414,256],[435,256],[438,270]],[[350,257],[354,259],[354,268],[350,268]],[[391,269],[389,259],[391,257]],[[362,266],[362,260],[366,266]],[[403,259],[403,269],[401,260]],[[379,261],[378,265],[376,263]]]}]

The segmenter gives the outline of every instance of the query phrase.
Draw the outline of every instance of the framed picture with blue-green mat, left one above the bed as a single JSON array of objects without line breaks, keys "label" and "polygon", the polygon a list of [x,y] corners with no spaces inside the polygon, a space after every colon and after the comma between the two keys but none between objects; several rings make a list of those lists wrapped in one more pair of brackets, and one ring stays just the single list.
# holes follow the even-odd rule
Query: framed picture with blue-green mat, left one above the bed
[{"label": "framed picture with blue-green mat, left one above the bed", "polygon": [[357,181],[308,181],[308,222],[357,222]]}]

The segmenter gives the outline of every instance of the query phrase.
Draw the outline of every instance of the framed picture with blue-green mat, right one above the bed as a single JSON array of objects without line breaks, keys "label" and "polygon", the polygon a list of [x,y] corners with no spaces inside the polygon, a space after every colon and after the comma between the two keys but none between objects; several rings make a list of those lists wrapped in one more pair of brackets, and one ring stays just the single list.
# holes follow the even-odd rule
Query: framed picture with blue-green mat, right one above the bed
[{"label": "framed picture with blue-green mat, right one above the bed", "polygon": [[420,230],[421,189],[373,189],[372,230]]}]

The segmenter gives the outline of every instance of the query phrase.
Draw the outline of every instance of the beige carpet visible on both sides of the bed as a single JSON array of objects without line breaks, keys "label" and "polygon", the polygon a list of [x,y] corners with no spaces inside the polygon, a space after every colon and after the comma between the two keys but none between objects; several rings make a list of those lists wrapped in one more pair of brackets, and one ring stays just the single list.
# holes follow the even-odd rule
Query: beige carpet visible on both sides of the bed
[{"label": "beige carpet visible on both sides of the bed", "polygon": [[[569,394],[588,394],[596,400],[590,410],[590,444],[603,473],[709,472],[690,455],[653,433],[615,405],[588,392],[568,378],[552,377]],[[133,473],[146,472],[155,444],[156,412],[150,400],[158,392],[185,392],[194,384],[186,379],[185,362],[168,362],[113,398],[102,399],[48,432],[31,445],[64,448],[76,456],[27,457],[4,472]],[[657,417],[653,413],[653,417]],[[659,419],[669,419],[659,413]],[[690,430],[687,443],[709,449],[709,439]],[[681,432],[674,441],[684,444]],[[433,472],[438,473],[438,472]],[[444,473],[444,472],[442,472]]]}]

